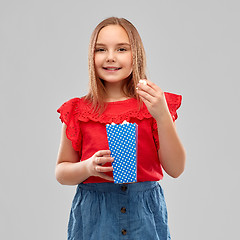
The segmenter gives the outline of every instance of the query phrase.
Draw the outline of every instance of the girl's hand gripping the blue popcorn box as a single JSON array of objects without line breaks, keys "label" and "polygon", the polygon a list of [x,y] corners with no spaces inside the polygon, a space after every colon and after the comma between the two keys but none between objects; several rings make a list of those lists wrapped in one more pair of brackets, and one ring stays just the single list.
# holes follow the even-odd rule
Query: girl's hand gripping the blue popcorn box
[{"label": "girl's hand gripping the blue popcorn box", "polygon": [[104,167],[107,162],[113,162],[114,158],[110,156],[110,150],[100,150],[96,152],[88,161],[88,171],[90,176],[101,177],[108,181],[113,181],[113,178],[104,174],[104,172],[112,172],[113,167]]}]

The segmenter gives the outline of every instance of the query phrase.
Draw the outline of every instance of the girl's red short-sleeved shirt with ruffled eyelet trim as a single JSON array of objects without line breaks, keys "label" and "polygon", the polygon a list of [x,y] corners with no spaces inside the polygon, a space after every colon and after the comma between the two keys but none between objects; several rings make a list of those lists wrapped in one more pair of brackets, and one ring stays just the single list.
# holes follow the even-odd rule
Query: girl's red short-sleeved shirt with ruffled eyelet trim
[{"label": "girl's red short-sleeved shirt with ruffled eyelet trim", "polygon": [[[181,105],[182,96],[166,93],[165,98],[169,112],[175,121],[176,110]],[[138,109],[138,101],[130,98],[123,101],[108,102],[107,108],[99,117],[92,114],[90,106],[83,98],[73,98],[65,102],[57,112],[67,125],[66,135],[72,141],[74,150],[78,151],[81,161],[90,158],[99,150],[109,150],[106,124],[122,123],[124,120],[138,125],[137,146],[137,181],[158,181],[163,178],[162,167],[158,157],[159,139],[156,120],[147,110],[146,105]],[[110,165],[106,164],[106,166]],[[107,172],[113,176],[112,172]],[[99,177],[89,177],[84,183],[108,182]]]}]

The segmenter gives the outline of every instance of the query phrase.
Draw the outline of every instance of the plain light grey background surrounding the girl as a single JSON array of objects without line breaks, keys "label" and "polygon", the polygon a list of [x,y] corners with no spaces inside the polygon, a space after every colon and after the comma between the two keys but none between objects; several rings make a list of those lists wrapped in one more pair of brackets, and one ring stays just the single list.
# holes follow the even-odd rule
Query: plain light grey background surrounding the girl
[{"label": "plain light grey background surrounding the girl", "polygon": [[90,34],[104,18],[139,30],[149,79],[183,95],[185,172],[162,183],[174,240],[238,239],[239,1],[0,1],[0,238],[66,239],[75,187],[54,169],[56,109],[86,94]]}]

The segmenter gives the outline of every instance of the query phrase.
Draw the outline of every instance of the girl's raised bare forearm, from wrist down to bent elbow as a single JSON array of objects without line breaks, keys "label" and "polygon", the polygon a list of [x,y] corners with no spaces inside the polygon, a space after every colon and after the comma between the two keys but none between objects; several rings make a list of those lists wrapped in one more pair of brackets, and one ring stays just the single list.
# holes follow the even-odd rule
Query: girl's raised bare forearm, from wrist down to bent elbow
[{"label": "girl's raised bare forearm, from wrist down to bent elbow", "polygon": [[186,158],[184,147],[170,114],[165,114],[156,121],[160,145],[158,155],[161,165],[168,175],[176,178],[184,171]]}]

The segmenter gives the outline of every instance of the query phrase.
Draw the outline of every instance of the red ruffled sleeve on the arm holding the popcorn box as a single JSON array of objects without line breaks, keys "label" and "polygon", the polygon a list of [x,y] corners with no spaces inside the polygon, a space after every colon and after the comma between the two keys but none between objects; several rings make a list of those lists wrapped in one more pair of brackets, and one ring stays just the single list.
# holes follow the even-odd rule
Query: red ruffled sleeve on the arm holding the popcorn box
[{"label": "red ruffled sleeve on the arm holding the popcorn box", "polygon": [[61,122],[67,125],[66,136],[72,142],[75,151],[81,150],[81,131],[78,121],[79,98],[73,98],[62,104],[57,112],[60,113]]}]

